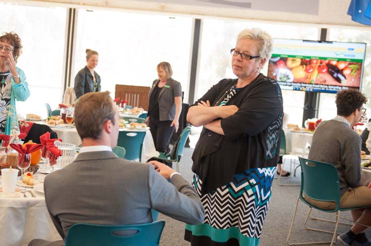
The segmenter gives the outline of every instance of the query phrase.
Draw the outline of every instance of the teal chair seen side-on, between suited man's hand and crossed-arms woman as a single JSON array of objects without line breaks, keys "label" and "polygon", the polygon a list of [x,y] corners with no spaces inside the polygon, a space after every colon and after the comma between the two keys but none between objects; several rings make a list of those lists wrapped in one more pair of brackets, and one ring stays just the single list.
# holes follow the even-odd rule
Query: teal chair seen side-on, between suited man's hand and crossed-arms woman
[{"label": "teal chair seen side-on, between suited man's hand and crossed-arms woman", "polygon": [[151,159],[158,159],[164,161],[171,161],[176,163],[176,171],[179,172],[179,160],[180,157],[183,155],[183,149],[185,146],[185,142],[187,142],[188,135],[190,135],[191,127],[187,126],[181,132],[178,140],[176,141],[174,147],[170,152],[170,156],[166,156],[165,153],[160,153],[159,156],[154,156]]}]

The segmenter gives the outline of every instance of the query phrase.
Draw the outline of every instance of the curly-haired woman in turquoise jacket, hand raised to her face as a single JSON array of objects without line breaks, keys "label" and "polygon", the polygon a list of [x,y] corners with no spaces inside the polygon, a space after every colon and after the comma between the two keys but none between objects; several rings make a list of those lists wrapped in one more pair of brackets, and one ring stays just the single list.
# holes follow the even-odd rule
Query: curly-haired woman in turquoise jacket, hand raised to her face
[{"label": "curly-haired woman in turquoise jacket, hand raised to her face", "polygon": [[[22,54],[20,37],[14,33],[0,36],[0,133],[9,135],[17,126],[16,100],[26,101],[30,96],[25,73],[17,67]],[[11,114],[4,113],[5,111]]]}]

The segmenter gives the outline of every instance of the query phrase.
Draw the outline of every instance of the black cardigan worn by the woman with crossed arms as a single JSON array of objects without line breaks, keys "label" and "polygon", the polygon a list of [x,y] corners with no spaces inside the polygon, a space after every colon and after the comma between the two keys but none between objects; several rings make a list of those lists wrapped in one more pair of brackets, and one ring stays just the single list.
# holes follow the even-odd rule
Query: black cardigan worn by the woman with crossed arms
[{"label": "black cardigan worn by the woman with crossed arms", "polygon": [[[236,82],[221,80],[192,106],[201,100],[216,106]],[[239,110],[221,120],[225,136],[203,128],[192,156],[192,170],[203,181],[203,194],[226,185],[247,169],[276,166],[280,156],[284,111],[281,88],[275,80],[260,74],[226,105],[236,105]]]}]

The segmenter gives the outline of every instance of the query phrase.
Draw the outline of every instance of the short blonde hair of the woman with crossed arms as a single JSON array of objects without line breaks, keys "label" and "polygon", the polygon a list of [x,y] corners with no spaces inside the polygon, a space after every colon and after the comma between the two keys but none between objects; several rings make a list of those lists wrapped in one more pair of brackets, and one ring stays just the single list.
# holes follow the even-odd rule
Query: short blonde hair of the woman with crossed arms
[{"label": "short blonde hair of the woman with crossed arms", "polygon": [[[237,36],[237,42],[241,39],[250,39],[258,44],[258,55],[260,59],[268,61],[273,52],[273,38],[265,31],[259,28],[245,29]],[[255,55],[255,54],[251,54]]]}]

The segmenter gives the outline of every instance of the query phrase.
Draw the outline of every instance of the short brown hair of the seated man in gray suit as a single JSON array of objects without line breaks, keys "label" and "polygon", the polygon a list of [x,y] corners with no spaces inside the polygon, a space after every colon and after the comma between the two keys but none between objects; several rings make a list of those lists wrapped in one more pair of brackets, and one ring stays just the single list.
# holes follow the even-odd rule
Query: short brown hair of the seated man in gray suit
[{"label": "short brown hair of the seated man in gray suit", "polygon": [[115,125],[113,100],[110,93],[89,92],[80,97],[75,105],[74,122],[81,139],[98,139],[107,120]]}]

